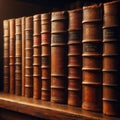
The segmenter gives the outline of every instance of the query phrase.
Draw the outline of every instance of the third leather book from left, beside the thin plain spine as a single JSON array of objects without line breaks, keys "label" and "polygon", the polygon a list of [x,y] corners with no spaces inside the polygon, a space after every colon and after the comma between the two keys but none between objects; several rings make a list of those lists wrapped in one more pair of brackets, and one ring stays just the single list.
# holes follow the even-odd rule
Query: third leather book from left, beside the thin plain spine
[{"label": "third leather book from left, beside the thin plain spine", "polygon": [[15,94],[22,93],[22,22],[15,19]]}]

